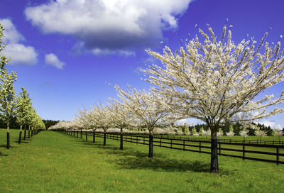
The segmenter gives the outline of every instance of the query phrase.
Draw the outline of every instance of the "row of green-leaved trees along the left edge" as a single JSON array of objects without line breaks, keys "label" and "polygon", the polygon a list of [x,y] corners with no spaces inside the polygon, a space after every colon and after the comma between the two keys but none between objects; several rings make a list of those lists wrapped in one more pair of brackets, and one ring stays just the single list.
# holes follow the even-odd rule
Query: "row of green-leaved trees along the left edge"
[{"label": "row of green-leaved trees along the left edge", "polygon": [[[4,50],[3,44],[3,32],[4,28],[0,24],[0,118],[7,125],[7,145],[6,148],[10,148],[10,122],[13,116],[16,116],[16,121],[20,125],[20,133],[18,143],[21,143],[22,127],[28,126],[28,138],[30,137],[30,131],[32,133],[37,128],[45,128],[43,120],[36,114],[35,109],[32,106],[31,98],[28,96],[28,91],[21,87],[19,95],[15,94],[13,83],[17,79],[16,72],[9,73],[6,69],[6,64],[9,59],[4,55],[1,55],[1,51]],[[26,138],[26,129],[25,136]]]}]

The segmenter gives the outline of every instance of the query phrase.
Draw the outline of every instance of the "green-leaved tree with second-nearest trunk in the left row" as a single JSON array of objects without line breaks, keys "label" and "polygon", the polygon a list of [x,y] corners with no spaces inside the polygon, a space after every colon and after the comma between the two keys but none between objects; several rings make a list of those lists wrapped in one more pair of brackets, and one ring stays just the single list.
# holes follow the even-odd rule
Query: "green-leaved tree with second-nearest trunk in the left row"
[{"label": "green-leaved tree with second-nearest trunk in the left row", "polygon": [[28,96],[28,91],[21,87],[22,92],[16,96],[16,121],[20,125],[20,133],[18,143],[21,143],[22,127],[28,123],[28,114],[31,109],[31,98]]}]

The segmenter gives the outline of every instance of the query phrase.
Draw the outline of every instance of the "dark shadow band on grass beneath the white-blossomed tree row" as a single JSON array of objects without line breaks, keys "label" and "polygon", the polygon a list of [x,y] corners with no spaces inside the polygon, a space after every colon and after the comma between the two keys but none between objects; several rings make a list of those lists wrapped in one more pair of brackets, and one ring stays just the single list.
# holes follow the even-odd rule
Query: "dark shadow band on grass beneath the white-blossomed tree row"
[{"label": "dark shadow band on grass beneath the white-blossomed tree row", "polygon": [[[166,172],[210,172],[210,163],[200,160],[179,160],[175,158],[167,158],[167,156],[154,153],[153,158],[148,158],[148,153],[135,150],[134,148],[124,148],[119,150],[116,145],[103,145],[102,143],[92,143],[86,140],[74,140],[75,142],[89,145],[91,148],[104,148],[104,153],[117,155],[114,160],[108,160],[118,169],[141,169]],[[219,175],[234,175],[235,170],[219,170]]]}]

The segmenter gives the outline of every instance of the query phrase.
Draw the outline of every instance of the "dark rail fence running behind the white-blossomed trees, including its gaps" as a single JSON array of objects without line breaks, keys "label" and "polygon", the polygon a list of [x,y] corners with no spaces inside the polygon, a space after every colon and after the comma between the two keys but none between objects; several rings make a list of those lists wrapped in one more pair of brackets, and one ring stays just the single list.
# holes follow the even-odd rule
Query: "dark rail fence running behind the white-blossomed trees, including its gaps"
[{"label": "dark rail fence running behind the white-blossomed trees, including its gaps", "polygon": [[[93,136],[92,131],[67,131],[72,136]],[[93,136],[94,137],[94,136]],[[104,138],[104,133],[95,132],[95,137]],[[120,140],[120,133],[107,133],[106,138]],[[124,142],[149,144],[149,136],[124,134]],[[218,140],[218,155],[284,164],[284,145],[273,143],[247,143],[242,140]],[[172,136],[153,136],[153,146],[210,154],[211,141],[197,138],[176,138]]]}]

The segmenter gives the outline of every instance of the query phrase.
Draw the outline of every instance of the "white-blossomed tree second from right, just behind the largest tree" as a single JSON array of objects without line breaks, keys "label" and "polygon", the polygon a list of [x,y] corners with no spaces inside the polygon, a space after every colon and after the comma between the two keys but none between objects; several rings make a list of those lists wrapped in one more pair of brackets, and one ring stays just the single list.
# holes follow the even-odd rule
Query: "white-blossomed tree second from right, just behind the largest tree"
[{"label": "white-blossomed tree second from right, just behind the largest tree", "polygon": [[168,99],[153,92],[138,91],[129,86],[129,91],[114,87],[123,101],[125,108],[129,109],[141,126],[149,131],[149,158],[153,158],[153,129],[160,125],[167,125],[176,121],[174,114],[165,111]]}]

